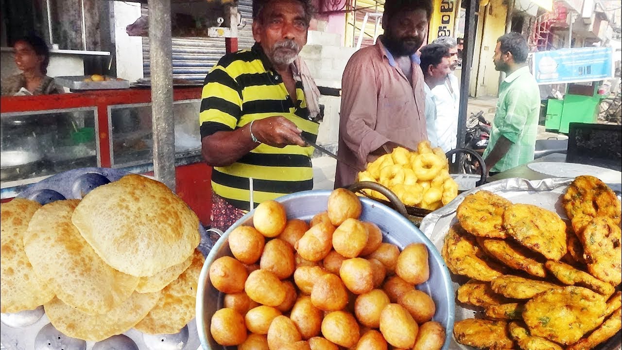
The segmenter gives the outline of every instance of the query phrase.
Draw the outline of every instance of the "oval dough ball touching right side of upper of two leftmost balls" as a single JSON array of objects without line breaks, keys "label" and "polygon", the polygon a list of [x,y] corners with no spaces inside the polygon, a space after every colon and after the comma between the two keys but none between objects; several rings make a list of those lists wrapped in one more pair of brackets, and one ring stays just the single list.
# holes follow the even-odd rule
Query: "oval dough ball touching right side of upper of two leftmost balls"
[{"label": "oval dough ball touching right side of upper of two leftmost balls", "polygon": [[279,306],[285,300],[285,287],[274,273],[267,270],[251,272],[244,291],[254,301],[267,306]]}]

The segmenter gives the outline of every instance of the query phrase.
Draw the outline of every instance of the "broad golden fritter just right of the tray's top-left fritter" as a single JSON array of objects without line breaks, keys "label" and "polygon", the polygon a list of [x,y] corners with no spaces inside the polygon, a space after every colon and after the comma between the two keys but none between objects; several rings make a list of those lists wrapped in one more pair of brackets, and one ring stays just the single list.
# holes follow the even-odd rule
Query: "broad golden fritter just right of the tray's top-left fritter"
[{"label": "broad golden fritter just right of the tray's top-left fritter", "polygon": [[503,213],[508,235],[549,260],[559,261],[567,252],[566,224],[557,214],[531,204],[513,204]]}]

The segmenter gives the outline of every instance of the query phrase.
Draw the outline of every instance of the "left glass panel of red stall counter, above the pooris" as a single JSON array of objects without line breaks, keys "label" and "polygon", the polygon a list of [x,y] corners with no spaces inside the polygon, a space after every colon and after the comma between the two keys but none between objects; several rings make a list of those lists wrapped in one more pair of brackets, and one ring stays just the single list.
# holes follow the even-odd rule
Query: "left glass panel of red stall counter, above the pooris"
[{"label": "left glass panel of red stall counter, above the pooris", "polygon": [[96,108],[2,113],[2,188],[100,165]]}]

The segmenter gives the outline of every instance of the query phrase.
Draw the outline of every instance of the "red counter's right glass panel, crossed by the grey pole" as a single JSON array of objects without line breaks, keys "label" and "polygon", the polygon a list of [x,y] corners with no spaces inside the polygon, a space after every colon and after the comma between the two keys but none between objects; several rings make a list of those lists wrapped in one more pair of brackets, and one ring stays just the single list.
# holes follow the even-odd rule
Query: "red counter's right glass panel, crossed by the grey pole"
[{"label": "red counter's right glass panel, crossed by the grey pole", "polygon": [[[175,101],[175,157],[200,154],[201,135],[197,125],[201,100]],[[108,107],[112,168],[153,161],[151,103]]]}]

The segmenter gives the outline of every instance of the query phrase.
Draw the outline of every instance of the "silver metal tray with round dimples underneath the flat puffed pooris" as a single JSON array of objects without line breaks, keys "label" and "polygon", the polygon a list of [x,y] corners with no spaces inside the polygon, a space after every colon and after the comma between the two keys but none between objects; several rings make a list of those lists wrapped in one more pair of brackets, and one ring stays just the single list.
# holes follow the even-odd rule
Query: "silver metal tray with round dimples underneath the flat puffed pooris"
[{"label": "silver metal tray with round dimples underneath the flat puffed pooris", "polygon": [[[73,169],[39,181],[17,197],[32,199],[41,204],[62,199],[80,199],[95,187],[117,181],[128,174],[131,173],[118,169]],[[199,232],[201,242],[198,249],[207,255],[213,244],[202,225],[199,225]],[[9,350],[197,350],[200,347],[195,319],[177,334],[149,335],[129,329],[123,334],[93,342],[60,333],[45,316],[43,306],[32,311],[0,314],[0,335],[2,346]]]}]

